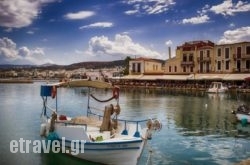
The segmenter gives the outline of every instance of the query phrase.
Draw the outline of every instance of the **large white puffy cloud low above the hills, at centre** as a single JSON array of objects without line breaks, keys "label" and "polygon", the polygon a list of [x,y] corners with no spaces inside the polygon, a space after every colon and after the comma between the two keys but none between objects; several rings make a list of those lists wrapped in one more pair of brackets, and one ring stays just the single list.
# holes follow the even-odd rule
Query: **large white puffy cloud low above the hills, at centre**
[{"label": "large white puffy cloud low above the hills, at centre", "polygon": [[111,55],[111,56],[143,56],[149,58],[160,58],[161,55],[151,49],[133,42],[128,35],[116,34],[114,41],[105,36],[95,36],[89,40],[89,55]]}]

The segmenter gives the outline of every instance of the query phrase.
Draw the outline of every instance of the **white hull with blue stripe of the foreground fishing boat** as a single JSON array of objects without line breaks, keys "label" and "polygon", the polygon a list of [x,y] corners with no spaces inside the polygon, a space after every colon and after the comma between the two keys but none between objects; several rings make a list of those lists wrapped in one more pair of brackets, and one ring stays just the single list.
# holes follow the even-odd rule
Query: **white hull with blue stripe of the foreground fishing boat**
[{"label": "white hull with blue stripe of the foreground fishing boat", "polygon": [[[84,149],[78,148],[78,154],[73,152],[71,141],[62,144],[66,153],[80,159],[112,165],[136,165],[141,155],[145,140],[132,140],[125,142],[87,142]],[[64,146],[63,146],[64,145]],[[72,154],[73,153],[73,154]]]}]

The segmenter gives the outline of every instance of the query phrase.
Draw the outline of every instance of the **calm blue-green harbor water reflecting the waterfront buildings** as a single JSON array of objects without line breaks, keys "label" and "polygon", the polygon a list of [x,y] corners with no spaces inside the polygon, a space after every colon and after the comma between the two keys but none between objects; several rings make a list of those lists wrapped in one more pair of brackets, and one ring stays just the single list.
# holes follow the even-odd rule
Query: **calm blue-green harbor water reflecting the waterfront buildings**
[{"label": "calm blue-green harbor water reflecting the waterfront buildings", "polygon": [[[12,140],[41,140],[43,83],[0,84],[0,164],[96,165],[61,153],[32,153],[31,148],[29,153],[10,152]],[[92,92],[98,98],[112,94],[107,90]],[[231,165],[250,158],[250,126],[236,122],[231,114],[239,104],[249,105],[249,100],[250,94],[122,89],[120,118],[156,117],[162,122],[161,131],[145,145],[139,165]],[[94,101],[91,105],[105,106]],[[86,107],[87,89],[58,90],[60,114],[86,115]]]}]

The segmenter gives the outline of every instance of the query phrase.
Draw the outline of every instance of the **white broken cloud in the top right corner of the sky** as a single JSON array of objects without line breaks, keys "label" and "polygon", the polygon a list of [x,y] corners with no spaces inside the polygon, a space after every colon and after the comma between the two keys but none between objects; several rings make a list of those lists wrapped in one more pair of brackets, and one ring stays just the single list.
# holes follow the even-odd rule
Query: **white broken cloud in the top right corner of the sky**
[{"label": "white broken cloud in the top right corner of the sky", "polygon": [[250,3],[238,1],[237,3],[233,4],[232,0],[225,0],[219,5],[212,6],[210,11],[214,12],[215,14],[232,16],[235,13],[250,11]]}]

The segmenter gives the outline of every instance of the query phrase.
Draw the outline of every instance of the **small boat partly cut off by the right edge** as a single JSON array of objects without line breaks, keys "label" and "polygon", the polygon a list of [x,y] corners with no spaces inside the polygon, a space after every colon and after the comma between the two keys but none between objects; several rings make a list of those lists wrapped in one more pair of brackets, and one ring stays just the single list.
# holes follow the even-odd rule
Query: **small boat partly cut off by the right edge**
[{"label": "small boat partly cut off by the right edge", "polygon": [[241,104],[238,108],[232,111],[238,121],[242,124],[250,123],[250,108],[246,104]]}]

